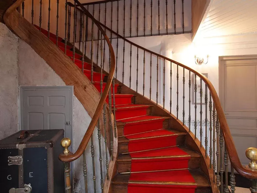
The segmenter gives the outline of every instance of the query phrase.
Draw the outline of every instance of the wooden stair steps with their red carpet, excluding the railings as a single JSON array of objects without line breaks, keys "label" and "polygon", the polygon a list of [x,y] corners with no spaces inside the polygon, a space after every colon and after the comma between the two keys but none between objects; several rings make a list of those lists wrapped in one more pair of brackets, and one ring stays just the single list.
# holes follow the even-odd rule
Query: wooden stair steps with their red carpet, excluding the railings
[{"label": "wooden stair steps with their red carpet, excluding the railings", "polygon": [[[48,34],[43,29],[41,32]],[[50,39],[56,43],[55,34],[50,34]],[[63,42],[58,38],[58,47],[64,52]],[[75,64],[82,69],[81,52],[76,52]],[[66,54],[73,60],[71,46],[67,46]],[[91,64],[84,63],[84,74],[91,80]],[[94,67],[93,84],[99,92],[105,76]],[[140,94],[115,82],[118,157],[112,192],[211,192],[210,182],[200,169],[201,154],[186,143],[188,133],[176,130],[172,118],[160,116],[150,100],[138,100]]]}]

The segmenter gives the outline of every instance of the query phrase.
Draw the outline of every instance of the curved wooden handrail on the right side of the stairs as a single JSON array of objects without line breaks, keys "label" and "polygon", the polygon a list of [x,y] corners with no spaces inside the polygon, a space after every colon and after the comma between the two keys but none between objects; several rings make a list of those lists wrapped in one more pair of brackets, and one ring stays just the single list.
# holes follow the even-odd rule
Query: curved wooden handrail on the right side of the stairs
[{"label": "curved wooden handrail on the right side of the stairs", "polygon": [[234,169],[241,175],[241,176],[244,176],[246,178],[249,178],[249,179],[257,179],[257,171],[253,171],[252,169],[248,168],[247,166],[244,167],[241,162],[240,162],[240,159],[238,157],[238,154],[237,154],[237,151],[236,151],[236,147],[235,147],[235,144],[234,144],[234,141],[233,141],[233,138],[232,138],[232,135],[230,133],[230,129],[228,127],[228,124],[227,124],[227,120],[226,120],[226,117],[224,115],[224,111],[222,109],[222,106],[221,106],[221,102],[219,100],[219,97],[218,97],[218,94],[213,86],[213,84],[209,81],[208,78],[206,78],[206,76],[204,76],[203,74],[195,71],[194,69],[188,67],[188,66],[185,66],[179,62],[176,62],[175,60],[172,60],[170,58],[167,58],[165,56],[162,56],[158,53],[155,53],[151,50],[148,50],[140,45],[137,45],[136,43],[124,38],[123,36],[121,36],[120,34],[116,33],[115,31],[111,30],[110,28],[106,27],[103,23],[100,23],[100,25],[103,26],[103,28],[106,28],[108,31],[110,31],[111,33],[115,34],[117,37],[125,40],[126,42],[128,43],[131,43],[133,46],[135,47],[138,47],[146,52],[149,52],[150,54],[153,54],[155,56],[158,56],[160,58],[163,58],[165,60],[168,60],[174,64],[177,64],[191,72],[193,72],[194,74],[196,74],[197,76],[199,76],[204,82],[205,84],[208,86],[208,89],[212,95],[212,98],[213,98],[213,102],[214,102],[214,106],[216,108],[216,112],[217,112],[217,115],[218,115],[218,118],[219,118],[219,122],[220,122],[220,126],[221,126],[221,130],[222,130],[222,133],[223,133],[223,137],[224,137],[224,141],[225,141],[225,144],[226,144],[226,147],[227,147],[227,153],[228,153],[228,156],[230,157],[230,161],[231,161],[231,164],[232,166],[234,167]]}]

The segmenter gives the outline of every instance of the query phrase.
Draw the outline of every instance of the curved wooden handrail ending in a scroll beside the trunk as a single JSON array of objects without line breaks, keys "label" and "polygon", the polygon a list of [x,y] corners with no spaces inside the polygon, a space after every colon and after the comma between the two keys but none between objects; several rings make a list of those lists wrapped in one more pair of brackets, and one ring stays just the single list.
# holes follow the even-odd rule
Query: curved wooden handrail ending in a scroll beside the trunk
[{"label": "curved wooden handrail ending in a scroll beside the trunk", "polygon": [[113,50],[113,47],[112,47],[112,44],[111,44],[109,38],[106,36],[106,34],[105,34],[104,30],[102,29],[101,25],[93,17],[93,15],[91,15],[78,0],[74,0],[74,1],[82,9],[84,14],[87,15],[96,24],[98,29],[103,34],[104,39],[106,40],[106,42],[108,44],[110,55],[111,55],[111,68],[110,68],[110,72],[109,72],[109,75],[108,75],[108,78],[107,78],[107,82],[106,82],[102,97],[101,97],[101,99],[98,103],[95,114],[94,114],[94,116],[93,116],[93,118],[92,118],[92,120],[91,120],[91,122],[88,126],[88,129],[87,129],[82,141],[79,144],[79,147],[78,147],[77,151],[74,154],[61,154],[61,155],[59,155],[59,159],[63,162],[71,162],[71,161],[74,161],[74,160],[78,159],[83,154],[84,150],[86,149],[86,146],[89,142],[89,139],[92,136],[93,131],[95,129],[95,126],[97,124],[97,120],[100,117],[100,114],[101,114],[102,109],[104,107],[104,103],[105,103],[105,100],[107,98],[110,86],[112,84],[112,79],[113,79],[114,70],[115,70],[115,54],[114,54],[114,50]]}]

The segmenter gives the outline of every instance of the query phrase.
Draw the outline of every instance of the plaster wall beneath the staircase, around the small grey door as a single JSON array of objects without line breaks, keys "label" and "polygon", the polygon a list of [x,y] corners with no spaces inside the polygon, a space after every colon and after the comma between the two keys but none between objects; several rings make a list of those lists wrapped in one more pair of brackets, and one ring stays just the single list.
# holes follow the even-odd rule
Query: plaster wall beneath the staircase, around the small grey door
[{"label": "plaster wall beneath the staircase, around the small grey door", "polygon": [[[24,41],[19,41],[18,47],[19,58],[19,85],[20,86],[60,86],[65,85],[61,78],[52,70],[52,68],[38,55],[36,52]],[[75,152],[84,136],[89,123],[91,121],[85,108],[74,96],[73,104],[73,151]],[[96,186],[97,191],[101,190],[100,186],[100,163],[99,163],[99,140],[97,136],[97,128],[93,133],[93,142],[95,148],[95,172],[96,172]],[[103,159],[103,176],[106,176],[105,168],[105,143],[104,138],[101,137],[102,159]],[[109,155],[108,155],[109,156]],[[109,160],[109,157],[108,157]],[[88,165],[88,191],[94,191],[93,185],[93,166],[91,157],[91,142],[86,148],[86,163]],[[80,157],[74,162],[74,177],[76,181],[75,192],[85,192],[84,176],[83,176],[83,158]]]}]

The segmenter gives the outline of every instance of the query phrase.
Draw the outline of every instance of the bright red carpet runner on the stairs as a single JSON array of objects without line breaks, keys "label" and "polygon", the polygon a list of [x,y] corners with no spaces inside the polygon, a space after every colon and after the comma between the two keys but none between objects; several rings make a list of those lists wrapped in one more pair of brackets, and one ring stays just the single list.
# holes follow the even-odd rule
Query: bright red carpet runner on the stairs
[{"label": "bright red carpet runner on the stairs", "polygon": [[[37,27],[37,26],[36,26]],[[38,27],[37,27],[38,28]],[[38,28],[39,29],[39,28]],[[48,32],[41,30],[46,36]],[[56,43],[54,34],[50,40]],[[64,43],[58,38],[58,47],[64,52]],[[73,59],[71,47],[67,55]],[[81,55],[75,54],[75,64],[82,69]],[[84,74],[91,80],[91,64],[84,64]],[[100,80],[105,74],[94,72],[93,84],[100,92]],[[116,120],[125,123],[124,136],[128,139],[131,171],[127,185],[129,193],[180,192],[193,193],[194,178],[188,169],[190,155],[177,147],[177,133],[163,129],[165,117],[149,115],[149,105],[132,104],[133,94],[118,94],[115,84]],[[105,83],[103,84],[103,89]],[[113,98],[113,91],[112,91]],[[108,103],[108,98],[106,99]],[[113,105],[113,104],[112,104]]]}]

